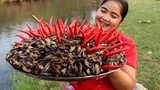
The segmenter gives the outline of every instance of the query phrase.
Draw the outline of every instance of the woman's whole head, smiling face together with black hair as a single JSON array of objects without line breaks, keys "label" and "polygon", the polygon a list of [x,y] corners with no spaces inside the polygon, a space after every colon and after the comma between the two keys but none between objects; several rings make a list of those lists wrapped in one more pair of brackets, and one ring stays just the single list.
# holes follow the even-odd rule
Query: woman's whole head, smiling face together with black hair
[{"label": "woman's whole head, smiling face together with black hair", "polygon": [[123,21],[128,12],[128,4],[123,1],[105,3],[106,1],[102,2],[97,11],[96,22],[101,23],[105,30],[109,30],[110,25],[117,28]]}]

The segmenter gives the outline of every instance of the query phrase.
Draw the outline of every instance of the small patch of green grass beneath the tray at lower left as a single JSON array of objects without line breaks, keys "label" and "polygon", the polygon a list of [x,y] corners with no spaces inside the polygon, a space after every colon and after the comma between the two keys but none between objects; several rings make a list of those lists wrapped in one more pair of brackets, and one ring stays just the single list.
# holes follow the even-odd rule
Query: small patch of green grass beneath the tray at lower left
[{"label": "small patch of green grass beneath the tray at lower left", "polygon": [[11,90],[61,90],[67,82],[40,80],[14,71]]}]

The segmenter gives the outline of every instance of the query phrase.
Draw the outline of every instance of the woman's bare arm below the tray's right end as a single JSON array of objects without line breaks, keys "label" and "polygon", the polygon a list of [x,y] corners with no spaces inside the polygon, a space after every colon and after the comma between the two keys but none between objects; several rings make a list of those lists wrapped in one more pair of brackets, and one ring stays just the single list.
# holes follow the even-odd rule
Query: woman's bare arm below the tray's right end
[{"label": "woman's bare arm below the tray's right end", "polygon": [[116,90],[133,90],[136,83],[136,69],[125,65],[122,69],[108,75]]}]

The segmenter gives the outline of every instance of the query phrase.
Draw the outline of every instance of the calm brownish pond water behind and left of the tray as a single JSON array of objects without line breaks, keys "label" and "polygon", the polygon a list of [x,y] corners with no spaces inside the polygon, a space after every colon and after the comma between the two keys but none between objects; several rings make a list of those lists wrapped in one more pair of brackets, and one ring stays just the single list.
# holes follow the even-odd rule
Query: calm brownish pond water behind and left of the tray
[{"label": "calm brownish pond water behind and left of the tray", "polygon": [[31,0],[31,2],[8,3],[0,5],[0,90],[8,90],[11,86],[9,79],[12,67],[6,62],[6,54],[15,41],[20,41],[15,36],[18,29],[27,29],[29,23],[34,27],[37,22],[32,18],[43,17],[49,21],[50,17],[67,18],[72,22],[77,16],[80,21],[87,18],[94,22],[95,12],[101,0]]}]

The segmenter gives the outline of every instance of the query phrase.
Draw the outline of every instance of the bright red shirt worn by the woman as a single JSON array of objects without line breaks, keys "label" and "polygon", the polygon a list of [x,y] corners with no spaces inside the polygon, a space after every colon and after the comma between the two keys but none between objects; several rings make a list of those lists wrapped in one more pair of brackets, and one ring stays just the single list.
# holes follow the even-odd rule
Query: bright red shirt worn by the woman
[{"label": "bright red shirt worn by the woman", "polygon": [[[128,42],[129,44],[131,44],[130,46],[126,45],[123,47],[129,47],[129,50],[125,51],[127,60],[126,64],[136,69],[137,49],[136,45],[134,44],[134,41],[131,38],[122,34],[118,37],[118,39],[122,42]],[[110,83],[107,75],[99,80],[92,79],[72,85],[75,88],[75,90],[115,90],[112,84]]]}]

